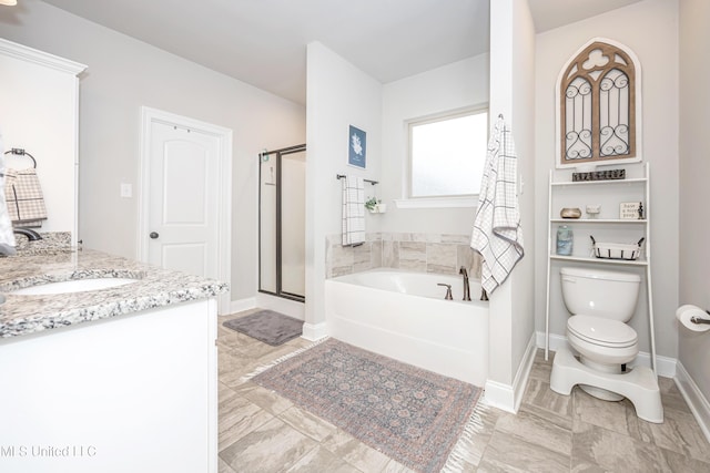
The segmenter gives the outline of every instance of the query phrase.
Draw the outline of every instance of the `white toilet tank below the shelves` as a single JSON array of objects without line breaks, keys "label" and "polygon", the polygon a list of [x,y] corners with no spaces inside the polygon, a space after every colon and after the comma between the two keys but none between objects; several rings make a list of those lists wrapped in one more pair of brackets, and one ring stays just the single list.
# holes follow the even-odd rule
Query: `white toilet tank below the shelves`
[{"label": "white toilet tank below the shelves", "polygon": [[636,310],[641,277],[632,273],[560,268],[562,299],[572,315],[628,322]]}]

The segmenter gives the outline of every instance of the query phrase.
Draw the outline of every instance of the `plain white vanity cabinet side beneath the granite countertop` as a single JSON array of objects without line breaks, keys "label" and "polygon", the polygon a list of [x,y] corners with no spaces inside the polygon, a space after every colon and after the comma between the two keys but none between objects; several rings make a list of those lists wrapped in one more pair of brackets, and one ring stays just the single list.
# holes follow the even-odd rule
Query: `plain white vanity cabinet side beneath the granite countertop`
[{"label": "plain white vanity cabinet side beneath the granite countertop", "polygon": [[0,339],[0,471],[217,471],[216,299]]}]

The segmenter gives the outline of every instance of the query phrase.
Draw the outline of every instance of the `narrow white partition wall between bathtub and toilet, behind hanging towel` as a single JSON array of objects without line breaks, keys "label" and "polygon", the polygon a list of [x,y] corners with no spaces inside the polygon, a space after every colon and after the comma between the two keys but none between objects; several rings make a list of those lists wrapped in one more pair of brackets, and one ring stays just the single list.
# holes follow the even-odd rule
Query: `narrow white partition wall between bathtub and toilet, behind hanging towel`
[{"label": "narrow white partition wall between bathtub and toilet, behind hanging towel", "polygon": [[504,0],[490,4],[490,113],[503,114],[516,143],[518,174],[527,182],[520,203],[526,256],[508,279],[490,296],[489,379],[486,398],[494,405],[517,409],[525,389],[525,350],[534,327],[534,248],[535,223],[531,204],[535,182],[531,89],[535,43],[532,20],[527,0]]}]

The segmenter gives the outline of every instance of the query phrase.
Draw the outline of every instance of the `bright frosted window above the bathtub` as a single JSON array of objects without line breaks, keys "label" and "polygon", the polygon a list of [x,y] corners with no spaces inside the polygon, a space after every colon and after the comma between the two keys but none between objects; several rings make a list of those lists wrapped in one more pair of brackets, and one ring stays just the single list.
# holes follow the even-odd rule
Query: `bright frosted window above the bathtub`
[{"label": "bright frosted window above the bathtub", "polygon": [[487,140],[487,109],[409,122],[409,197],[478,194]]}]

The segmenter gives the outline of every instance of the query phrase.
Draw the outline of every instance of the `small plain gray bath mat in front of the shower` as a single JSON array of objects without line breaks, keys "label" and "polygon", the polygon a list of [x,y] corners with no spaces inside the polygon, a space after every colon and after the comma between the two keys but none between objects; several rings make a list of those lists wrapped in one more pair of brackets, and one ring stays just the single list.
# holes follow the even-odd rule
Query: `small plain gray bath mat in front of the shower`
[{"label": "small plain gray bath mat in front of the shower", "polygon": [[303,320],[273,310],[260,310],[222,323],[227,329],[245,333],[272,347],[285,343],[303,333]]}]

